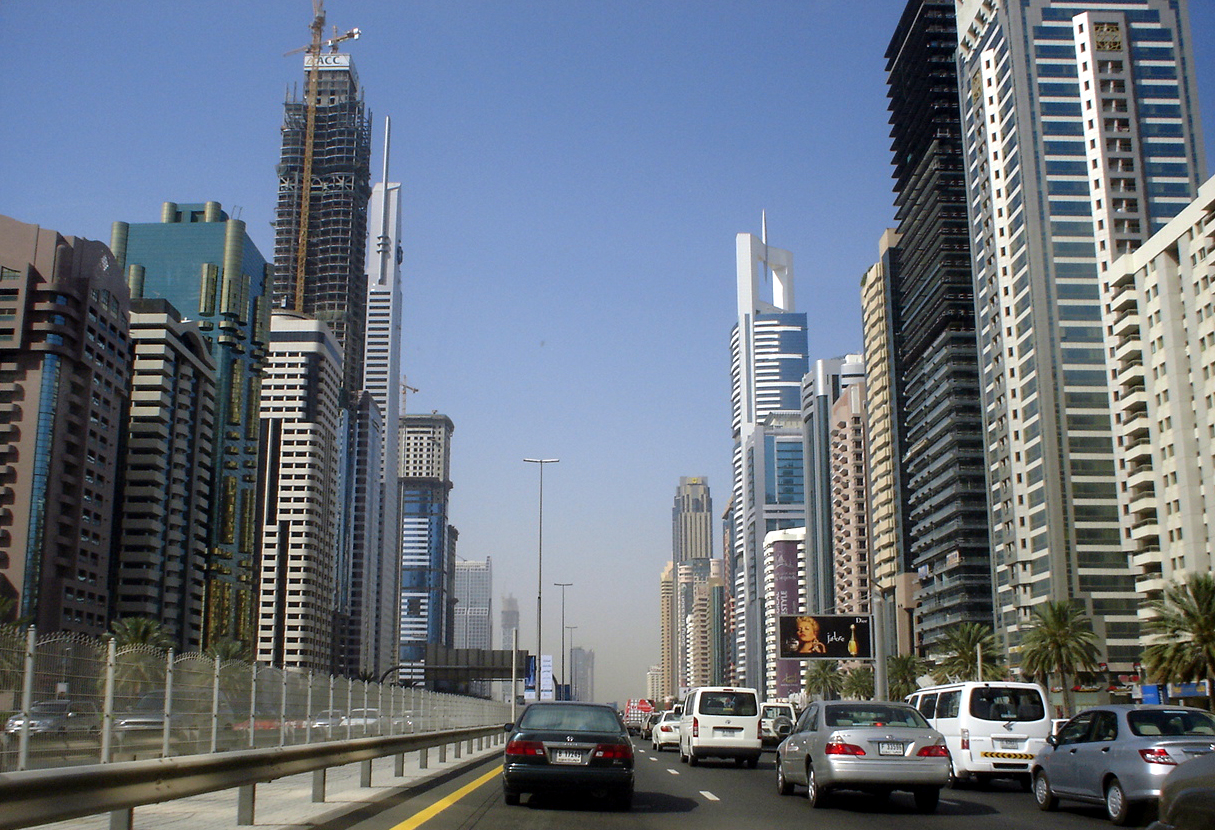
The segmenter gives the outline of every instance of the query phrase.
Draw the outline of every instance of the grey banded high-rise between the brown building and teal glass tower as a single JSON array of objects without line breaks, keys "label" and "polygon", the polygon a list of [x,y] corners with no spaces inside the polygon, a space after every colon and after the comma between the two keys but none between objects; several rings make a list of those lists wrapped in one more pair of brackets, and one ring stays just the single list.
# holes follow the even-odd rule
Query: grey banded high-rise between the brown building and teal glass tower
[{"label": "grey banded high-rise between the brown building and teal glass tower", "polygon": [[168,300],[131,300],[131,403],[120,469],[114,615],[202,651],[215,456],[215,361]]}]

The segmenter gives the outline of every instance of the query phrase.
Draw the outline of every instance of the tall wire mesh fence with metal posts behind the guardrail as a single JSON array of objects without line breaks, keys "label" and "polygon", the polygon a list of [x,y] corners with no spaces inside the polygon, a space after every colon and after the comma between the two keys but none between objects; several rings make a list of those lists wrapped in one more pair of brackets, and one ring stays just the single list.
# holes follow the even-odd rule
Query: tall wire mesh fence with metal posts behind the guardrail
[{"label": "tall wire mesh fence with metal posts behind the guardrail", "polygon": [[0,629],[0,770],[505,723],[509,704]]}]

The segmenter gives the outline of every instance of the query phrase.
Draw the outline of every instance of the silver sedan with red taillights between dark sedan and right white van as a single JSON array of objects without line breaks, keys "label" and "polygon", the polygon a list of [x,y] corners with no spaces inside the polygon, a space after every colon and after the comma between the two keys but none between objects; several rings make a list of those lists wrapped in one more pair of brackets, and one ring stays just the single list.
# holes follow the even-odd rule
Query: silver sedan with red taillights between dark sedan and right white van
[{"label": "silver sedan with red taillights between dark sedan and right white van", "polygon": [[801,784],[813,807],[832,790],[909,790],[916,809],[931,813],[948,780],[945,739],[906,704],[810,704],[776,747],[776,790],[789,795]]}]

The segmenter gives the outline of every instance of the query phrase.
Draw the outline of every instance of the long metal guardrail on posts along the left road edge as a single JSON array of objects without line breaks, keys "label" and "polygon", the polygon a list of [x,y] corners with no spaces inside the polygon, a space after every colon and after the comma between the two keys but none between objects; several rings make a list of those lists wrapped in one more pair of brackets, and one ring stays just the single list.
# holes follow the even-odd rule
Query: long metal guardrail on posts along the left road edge
[{"label": "long metal guardrail on posts along the left road edge", "polygon": [[[0,830],[18,830],[96,813],[111,813],[111,828],[129,830],[132,811],[143,804],[239,787],[237,824],[254,823],[255,786],[287,775],[363,762],[363,786],[371,786],[371,761],[413,750],[476,740],[501,743],[502,724],[467,727],[388,738],[357,738],[303,746],[276,746],[215,755],[124,761],[0,773]],[[402,763],[397,763],[401,774]],[[318,791],[320,783],[320,791]],[[70,797],[64,797],[70,794]],[[313,778],[312,801],[324,801],[323,777]]]}]

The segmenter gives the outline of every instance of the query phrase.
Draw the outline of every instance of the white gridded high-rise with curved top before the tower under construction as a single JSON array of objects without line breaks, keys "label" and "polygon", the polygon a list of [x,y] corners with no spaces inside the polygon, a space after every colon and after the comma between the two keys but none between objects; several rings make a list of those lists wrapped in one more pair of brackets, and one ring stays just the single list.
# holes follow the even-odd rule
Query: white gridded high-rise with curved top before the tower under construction
[{"label": "white gridded high-rise with curved top before the tower under construction", "polygon": [[328,327],[276,311],[261,390],[261,570],[256,657],[329,672],[334,656],[341,352]]}]

